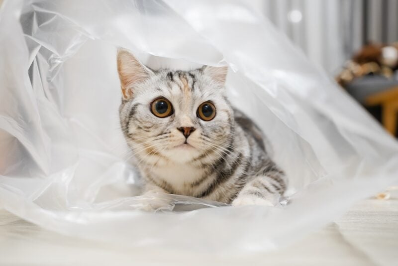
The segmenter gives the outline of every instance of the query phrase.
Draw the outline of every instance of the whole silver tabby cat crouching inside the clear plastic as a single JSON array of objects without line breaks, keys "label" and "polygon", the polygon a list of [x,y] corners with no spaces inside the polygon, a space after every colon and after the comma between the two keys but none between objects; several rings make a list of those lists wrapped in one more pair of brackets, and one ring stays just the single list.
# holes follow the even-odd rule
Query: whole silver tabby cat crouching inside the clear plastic
[{"label": "whole silver tabby cat crouching inside the clear plastic", "polygon": [[225,96],[226,67],[151,70],[118,50],[120,124],[147,193],[278,203],[287,183],[263,134]]}]

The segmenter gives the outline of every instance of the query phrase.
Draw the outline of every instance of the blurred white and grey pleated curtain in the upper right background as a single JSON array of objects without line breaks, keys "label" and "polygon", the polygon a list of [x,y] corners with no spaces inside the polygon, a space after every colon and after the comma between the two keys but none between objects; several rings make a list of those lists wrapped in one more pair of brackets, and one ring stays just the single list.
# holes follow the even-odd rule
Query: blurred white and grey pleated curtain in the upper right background
[{"label": "blurred white and grey pleated curtain in the upper right background", "polygon": [[368,41],[398,40],[397,0],[264,0],[264,14],[317,65],[336,74]]}]

